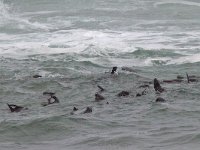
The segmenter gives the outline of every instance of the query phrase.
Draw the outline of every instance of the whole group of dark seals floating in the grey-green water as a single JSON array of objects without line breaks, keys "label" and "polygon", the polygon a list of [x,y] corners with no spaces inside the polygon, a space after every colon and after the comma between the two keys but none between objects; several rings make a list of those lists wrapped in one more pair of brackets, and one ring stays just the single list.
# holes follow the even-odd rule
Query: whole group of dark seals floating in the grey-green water
[{"label": "whole group of dark seals floating in the grey-green water", "polygon": [[[124,67],[122,68],[122,70],[128,70],[130,72],[135,72],[135,70],[133,69],[130,69],[128,67]],[[117,67],[113,67],[112,68],[112,71],[110,72],[111,75],[114,75],[114,74],[117,74]],[[190,83],[190,82],[197,82],[198,79],[197,78],[200,78],[200,77],[197,77],[197,76],[189,76],[187,73],[186,73],[186,76],[187,76],[187,82]],[[34,75],[33,78],[40,78],[42,76],[40,75]],[[182,82],[184,79],[184,77],[182,76],[177,76],[177,79],[173,79],[173,80],[163,80],[163,83],[180,83]],[[149,82],[150,83],[150,82]],[[162,93],[165,91],[165,89],[163,87],[161,87],[160,85],[160,82],[158,81],[157,78],[155,78],[153,80],[153,85],[154,85],[154,90],[155,92],[158,92],[158,93]],[[95,101],[96,102],[99,102],[99,101],[102,101],[104,100],[104,96],[102,96],[100,93],[102,93],[103,91],[105,91],[105,89],[100,86],[100,85],[97,85],[97,87],[100,89],[99,92],[95,93]],[[136,97],[139,97],[139,96],[142,96],[142,95],[146,95],[146,88],[149,88],[150,86],[148,84],[145,84],[145,85],[141,85],[139,86],[139,88],[145,88],[141,93],[137,93],[136,94]],[[124,96],[129,96],[130,92],[128,91],[121,91],[117,94],[118,97],[124,97]],[[54,103],[59,103],[59,99],[55,96],[55,93],[53,92],[43,92],[43,95],[47,95],[49,96],[49,98],[47,99],[47,102],[44,102],[42,103],[42,106],[47,106],[47,105],[50,105],[50,104],[54,104]],[[155,102],[166,102],[165,99],[163,99],[162,97],[158,97]],[[107,104],[109,104],[107,102]],[[28,109],[28,108],[25,108],[23,106],[18,106],[18,105],[15,105],[15,104],[7,104],[7,106],[9,107],[10,111],[11,112],[20,112],[21,110],[23,109]],[[74,112],[78,111],[78,108],[74,107],[73,108],[73,111],[71,112],[71,114],[74,114]],[[92,107],[86,107],[86,109],[82,112],[83,114],[85,113],[91,113],[92,112]]]}]

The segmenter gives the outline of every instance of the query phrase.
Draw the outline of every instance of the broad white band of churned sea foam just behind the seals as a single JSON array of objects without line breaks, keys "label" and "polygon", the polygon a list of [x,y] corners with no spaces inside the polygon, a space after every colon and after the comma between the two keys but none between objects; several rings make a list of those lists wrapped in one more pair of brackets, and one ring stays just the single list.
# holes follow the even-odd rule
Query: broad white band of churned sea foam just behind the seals
[{"label": "broad white band of churned sea foam just behind the seals", "polygon": [[[62,30],[54,33],[41,34],[23,34],[23,35],[6,35],[1,34],[0,54],[16,57],[24,57],[33,54],[56,54],[56,53],[79,53],[90,56],[106,56],[110,54],[121,55],[137,50],[141,47],[145,50],[168,49],[175,53],[183,54],[184,57],[169,58],[167,57],[148,57],[145,60],[141,58],[123,59],[125,64],[138,64],[141,66],[152,65],[153,61],[163,61],[167,64],[198,62],[198,56],[191,58],[192,51],[184,50],[176,45],[175,38],[156,32],[121,32],[121,31],[91,31],[83,29]],[[187,39],[194,38],[198,34],[188,32],[188,36],[179,38],[179,43],[186,43]],[[171,41],[171,42],[170,42]],[[175,43],[175,44],[174,44]],[[183,52],[183,53],[182,53]],[[198,53],[198,51],[196,51]],[[188,59],[187,59],[188,58]],[[111,60],[113,64],[124,65],[120,60]]]}]

